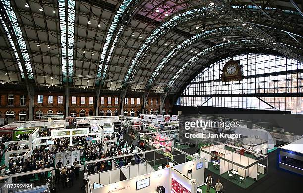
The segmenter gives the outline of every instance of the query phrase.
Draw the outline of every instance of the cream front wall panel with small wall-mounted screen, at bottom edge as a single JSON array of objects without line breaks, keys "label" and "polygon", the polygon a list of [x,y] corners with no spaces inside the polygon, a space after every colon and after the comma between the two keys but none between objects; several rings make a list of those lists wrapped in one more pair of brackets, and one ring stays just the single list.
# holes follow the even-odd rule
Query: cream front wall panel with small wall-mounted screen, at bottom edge
[{"label": "cream front wall panel with small wall-mounted screen, at bottom edge", "polygon": [[[170,193],[170,168],[161,169],[153,173],[145,174],[140,177],[135,177],[127,180],[117,182],[115,184],[106,185],[97,189],[93,189],[93,193],[154,193],[158,186],[163,186],[166,193]],[[150,178],[150,185],[136,190],[136,182]]]}]

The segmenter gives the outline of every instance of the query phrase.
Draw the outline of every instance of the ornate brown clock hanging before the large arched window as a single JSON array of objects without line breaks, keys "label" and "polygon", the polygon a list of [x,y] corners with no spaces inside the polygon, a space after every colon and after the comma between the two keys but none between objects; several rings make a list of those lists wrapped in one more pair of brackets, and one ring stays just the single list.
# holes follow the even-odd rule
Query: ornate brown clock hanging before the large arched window
[{"label": "ornate brown clock hanging before the large arched window", "polygon": [[242,80],[242,67],[237,61],[229,60],[222,69],[222,82]]}]

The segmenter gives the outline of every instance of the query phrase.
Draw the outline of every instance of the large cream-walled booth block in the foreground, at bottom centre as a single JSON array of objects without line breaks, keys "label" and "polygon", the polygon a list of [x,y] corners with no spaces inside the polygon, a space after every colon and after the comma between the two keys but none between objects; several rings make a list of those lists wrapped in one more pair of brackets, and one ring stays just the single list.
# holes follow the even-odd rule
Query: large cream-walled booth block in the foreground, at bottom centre
[{"label": "large cream-walled booth block in the foreground, at bottom centre", "polygon": [[[134,156],[139,156],[136,160],[140,160],[139,162],[135,161],[135,165],[119,167],[113,163],[112,168],[108,171],[88,175],[88,193],[125,193],[128,191],[138,193],[196,193],[197,187],[205,184],[205,159],[192,157],[192,161],[185,161],[185,157],[190,155],[180,150],[177,151],[179,154],[175,153],[176,157],[173,161],[164,156],[165,160],[163,161],[166,162],[166,165],[162,167],[164,163],[160,164],[159,169],[155,169],[155,164],[161,163],[161,161],[158,162],[158,156],[162,154],[159,154],[158,150],[135,154]],[[143,158],[143,153],[145,158]],[[117,158],[115,157],[115,159]],[[110,158],[104,160],[108,161]],[[97,161],[99,160],[89,161],[87,164],[96,164]]]}]

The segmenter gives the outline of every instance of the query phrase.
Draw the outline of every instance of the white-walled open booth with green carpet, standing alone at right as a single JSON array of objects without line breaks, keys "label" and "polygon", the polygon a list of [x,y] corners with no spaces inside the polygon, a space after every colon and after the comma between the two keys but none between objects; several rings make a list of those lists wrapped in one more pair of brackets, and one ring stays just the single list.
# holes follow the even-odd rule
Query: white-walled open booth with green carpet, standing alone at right
[{"label": "white-walled open booth with green carpet, standing alone at right", "polygon": [[[231,182],[247,188],[267,174],[268,156],[233,145],[219,144],[200,148],[206,168]],[[254,159],[252,154],[257,154]]]}]

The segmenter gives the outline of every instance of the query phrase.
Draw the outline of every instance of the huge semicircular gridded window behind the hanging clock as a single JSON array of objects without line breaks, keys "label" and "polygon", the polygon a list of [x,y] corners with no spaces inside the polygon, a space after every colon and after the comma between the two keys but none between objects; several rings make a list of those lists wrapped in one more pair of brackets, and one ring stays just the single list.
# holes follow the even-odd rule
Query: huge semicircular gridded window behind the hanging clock
[{"label": "huge semicircular gridded window behind the hanging clock", "polygon": [[298,61],[266,54],[237,55],[232,59],[239,62],[243,80],[222,82],[222,69],[230,59],[205,68],[187,85],[176,105],[303,113],[303,97],[292,95],[303,92],[303,65]]}]

